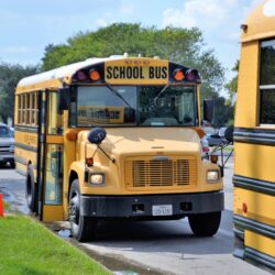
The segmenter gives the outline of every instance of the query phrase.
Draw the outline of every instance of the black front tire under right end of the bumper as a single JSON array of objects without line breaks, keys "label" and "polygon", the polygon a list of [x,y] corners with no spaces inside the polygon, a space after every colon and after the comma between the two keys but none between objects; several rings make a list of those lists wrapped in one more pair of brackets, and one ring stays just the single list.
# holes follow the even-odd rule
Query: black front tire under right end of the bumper
[{"label": "black front tire under right end of the bumper", "polygon": [[221,211],[191,215],[188,220],[195,235],[211,237],[217,233],[220,227]]}]

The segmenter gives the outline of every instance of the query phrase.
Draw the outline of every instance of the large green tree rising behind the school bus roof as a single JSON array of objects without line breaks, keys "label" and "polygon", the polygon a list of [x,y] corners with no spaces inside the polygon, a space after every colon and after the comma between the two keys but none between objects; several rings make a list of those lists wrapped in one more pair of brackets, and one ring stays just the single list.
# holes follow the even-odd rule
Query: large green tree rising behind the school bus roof
[{"label": "large green tree rising behind the school bus roof", "polygon": [[123,53],[160,56],[198,69],[202,79],[201,99],[217,98],[223,86],[223,67],[213,51],[206,47],[197,28],[158,30],[155,26],[142,28],[141,24],[114,23],[96,32],[79,32],[66,44],[46,46],[42,68],[48,70],[90,57]]}]

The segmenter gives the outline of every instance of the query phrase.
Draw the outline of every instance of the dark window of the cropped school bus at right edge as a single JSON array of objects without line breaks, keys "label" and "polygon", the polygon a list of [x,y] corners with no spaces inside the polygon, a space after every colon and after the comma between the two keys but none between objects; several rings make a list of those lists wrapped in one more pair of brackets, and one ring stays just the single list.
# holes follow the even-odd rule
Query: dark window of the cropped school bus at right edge
[{"label": "dark window of the cropped school bus at right edge", "polygon": [[260,124],[275,124],[275,40],[261,44]]}]

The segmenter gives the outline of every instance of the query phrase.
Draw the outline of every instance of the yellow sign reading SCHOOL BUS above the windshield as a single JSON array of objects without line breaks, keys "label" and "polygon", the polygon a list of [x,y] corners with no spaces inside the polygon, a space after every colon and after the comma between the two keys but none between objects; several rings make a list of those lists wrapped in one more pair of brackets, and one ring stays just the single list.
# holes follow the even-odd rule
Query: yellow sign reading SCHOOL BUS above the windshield
[{"label": "yellow sign reading SCHOOL BUS above the windshield", "polygon": [[168,82],[168,62],[148,58],[129,58],[106,62],[105,77],[108,84],[165,85]]}]

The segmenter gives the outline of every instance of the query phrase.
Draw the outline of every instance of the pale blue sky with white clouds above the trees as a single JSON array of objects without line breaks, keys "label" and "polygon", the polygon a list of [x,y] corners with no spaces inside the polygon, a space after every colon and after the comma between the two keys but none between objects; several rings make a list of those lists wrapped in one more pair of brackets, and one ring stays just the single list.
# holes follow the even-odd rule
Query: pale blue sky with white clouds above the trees
[{"label": "pale blue sky with white clouds above the trees", "polygon": [[[48,44],[114,22],[198,26],[227,79],[240,54],[240,25],[261,0],[0,0],[0,62],[41,63]],[[123,53],[121,53],[123,54]]]}]

